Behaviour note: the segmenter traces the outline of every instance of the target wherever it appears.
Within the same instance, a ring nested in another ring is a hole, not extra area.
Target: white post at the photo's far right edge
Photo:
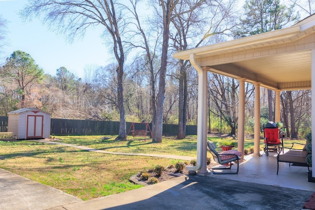
[[[315,50],[311,50],[311,79],[312,79],[312,168],[315,166]],[[314,163],[314,164],[313,164]],[[315,177],[315,173],[312,174]]]

